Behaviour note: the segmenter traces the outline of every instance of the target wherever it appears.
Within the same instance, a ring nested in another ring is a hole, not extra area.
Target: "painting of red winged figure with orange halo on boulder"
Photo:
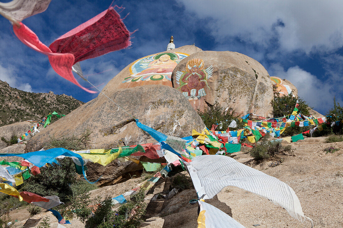
[[[189,101],[196,101],[205,96],[205,86],[210,89],[207,80],[212,77],[213,65],[206,69],[204,65],[202,59],[191,59],[186,64],[186,71],[176,72],[176,81],[180,85],[178,89]]]

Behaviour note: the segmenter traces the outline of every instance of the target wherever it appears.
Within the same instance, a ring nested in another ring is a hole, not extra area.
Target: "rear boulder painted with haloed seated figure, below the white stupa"
[[[144,85],[165,85],[172,87],[171,73],[176,65],[188,55],[202,51],[192,45],[186,45],[169,51],[142,57],[116,75],[106,87],[110,89],[132,88]],[[105,87],[105,88],[106,88]]]

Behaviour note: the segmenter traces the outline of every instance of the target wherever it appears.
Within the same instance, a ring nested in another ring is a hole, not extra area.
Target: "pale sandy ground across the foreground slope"
[[[231,156],[262,172],[279,178],[291,186],[297,194],[304,214],[310,217],[316,228],[343,227],[343,142],[325,143],[325,137],[305,138],[291,143],[293,156],[280,156],[273,161],[282,161],[280,165],[268,167],[272,161],[261,164],[251,162],[251,157],[244,152],[233,153]],[[334,147],[341,150],[333,154],[323,152],[324,148]],[[186,172],[183,172],[186,174]],[[100,195],[116,197],[130,190],[143,181],[142,178],[130,179],[126,182],[107,186],[91,191],[92,197]],[[149,195],[165,193],[170,188],[169,178],[160,179],[148,192]],[[144,228],[197,227],[198,206],[191,205],[190,200],[196,199],[193,188],[177,193],[171,199],[146,200],[147,212]],[[213,199],[205,200],[223,212],[232,216],[247,228],[308,228],[309,221],[300,222],[292,218],[282,207],[259,197],[251,192],[225,187]],[[50,212],[43,212],[29,218],[26,209],[11,212],[12,219],[19,220],[14,227],[36,227],[44,216],[50,218],[51,227],[57,227],[56,218]],[[77,219],[65,227],[83,227]],[[253,226],[255,225],[255,226]],[[225,225],[223,225],[225,227]]]

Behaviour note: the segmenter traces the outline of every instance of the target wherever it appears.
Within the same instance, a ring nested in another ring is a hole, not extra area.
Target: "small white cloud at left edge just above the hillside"
[[[28,83],[21,83],[20,78],[11,67],[3,67],[0,64],[0,80],[6,81],[11,87],[32,92],[32,87]]]

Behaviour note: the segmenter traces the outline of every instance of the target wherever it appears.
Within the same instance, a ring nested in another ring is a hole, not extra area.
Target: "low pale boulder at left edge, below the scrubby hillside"
[[[29,122],[19,122],[10,125],[5,125],[0,127],[0,139],[4,137],[6,140],[10,140],[12,134],[17,137],[23,135],[26,131],[31,129],[32,123]],[[0,140],[0,149],[7,147],[6,143]]]

